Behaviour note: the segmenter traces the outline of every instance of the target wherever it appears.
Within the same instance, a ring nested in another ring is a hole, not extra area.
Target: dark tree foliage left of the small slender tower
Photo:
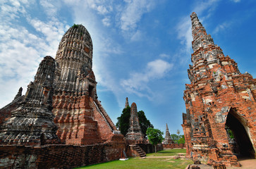
[[[130,125],[130,106],[123,108],[121,116],[117,118],[116,127],[120,130],[121,134],[126,136]]]

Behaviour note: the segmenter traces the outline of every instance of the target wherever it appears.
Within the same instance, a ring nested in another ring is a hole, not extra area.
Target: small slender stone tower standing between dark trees
[[[130,127],[126,134],[126,142],[129,144],[138,144],[142,143],[143,140],[144,136],[140,128],[137,105],[133,102],[130,106]]]

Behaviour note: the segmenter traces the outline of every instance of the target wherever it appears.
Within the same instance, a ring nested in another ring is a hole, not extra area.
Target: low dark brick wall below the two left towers
[[[75,168],[114,161],[125,144],[0,146],[0,168]]]

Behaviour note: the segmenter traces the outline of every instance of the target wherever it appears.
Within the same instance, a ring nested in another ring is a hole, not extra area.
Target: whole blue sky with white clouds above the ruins
[[[191,13],[240,73],[256,77],[254,0],[1,0],[0,107],[23,94],[44,56],[83,24],[92,37],[97,95],[116,124],[126,97],[162,132],[183,133],[183,91],[192,65]]]

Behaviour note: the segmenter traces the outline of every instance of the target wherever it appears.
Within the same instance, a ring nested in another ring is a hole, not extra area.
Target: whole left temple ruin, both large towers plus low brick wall
[[[123,135],[97,99],[92,39],[83,25],[63,35],[22,95],[0,109],[4,168],[74,168],[120,158]]]

